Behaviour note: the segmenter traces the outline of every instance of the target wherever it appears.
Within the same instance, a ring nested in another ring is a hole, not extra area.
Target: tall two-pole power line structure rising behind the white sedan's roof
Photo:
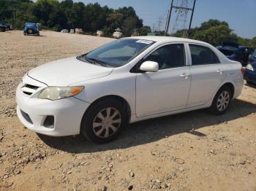
[[[173,22],[171,27],[171,35],[175,34],[177,31],[181,31],[181,36],[186,38],[189,36],[192,17],[195,10],[195,1],[196,0],[177,0],[176,4],[173,5],[173,0],[171,1],[170,11],[167,16],[167,22],[165,26],[165,35],[167,35],[170,25],[170,17],[173,9],[176,13],[176,19]],[[193,2],[193,6],[189,7],[189,4]],[[191,13],[191,14],[190,14]],[[189,26],[188,26],[188,16],[190,16]]]

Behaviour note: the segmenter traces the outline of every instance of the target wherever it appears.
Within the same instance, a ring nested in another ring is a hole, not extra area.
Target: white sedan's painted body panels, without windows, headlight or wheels
[[[130,120],[136,122],[169,114],[188,112],[211,106],[220,87],[229,82],[234,87],[233,98],[241,94],[243,75],[241,63],[230,61],[215,47],[205,42],[163,36],[136,36],[132,39],[154,41],[132,61],[118,68],[105,68],[79,61],[75,57],[39,66],[23,77],[16,90],[17,112],[27,128],[49,136],[80,133],[80,123],[86,109],[97,99],[117,95],[129,104]],[[132,73],[130,70],[157,48],[184,44],[186,66],[157,72]],[[221,63],[192,66],[188,44],[200,44],[213,50]],[[31,95],[23,93],[24,85],[38,87]],[[82,92],[57,101],[39,99],[39,92],[48,86],[84,86]],[[29,114],[33,124],[23,114]],[[54,116],[54,127],[45,128],[43,121]]]

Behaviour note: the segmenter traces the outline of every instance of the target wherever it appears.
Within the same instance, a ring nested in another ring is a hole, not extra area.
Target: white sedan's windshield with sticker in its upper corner
[[[142,39],[118,39],[77,58],[101,66],[119,67],[131,61],[151,44],[154,42]]]

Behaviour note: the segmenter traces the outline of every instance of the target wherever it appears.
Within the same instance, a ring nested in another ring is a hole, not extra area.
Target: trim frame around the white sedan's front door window
[[[143,63],[143,61],[148,58],[149,55],[151,55],[154,51],[158,50],[161,47],[170,45],[170,44],[183,44],[184,45],[184,58],[185,58],[185,65],[184,66],[178,66],[178,67],[173,67],[173,68],[169,68],[169,69],[178,69],[178,68],[182,68],[182,67],[187,67],[189,66],[189,54],[187,52],[187,43],[186,42],[165,42],[163,44],[159,44],[159,46],[154,47],[153,50],[151,50],[150,52],[148,52],[143,58],[140,59],[140,61],[138,61],[138,63],[135,64],[135,66],[132,67],[132,69],[130,69],[129,72],[131,73],[145,73],[145,71],[140,71],[139,67],[140,65]],[[164,71],[167,69],[160,69],[159,71]]]

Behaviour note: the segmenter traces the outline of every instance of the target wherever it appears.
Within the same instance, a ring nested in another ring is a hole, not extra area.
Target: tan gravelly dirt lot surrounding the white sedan
[[[256,190],[256,87],[246,83],[222,116],[199,110],[138,122],[104,145],[23,127],[15,88],[26,71],[111,40],[0,33],[0,190]]]

